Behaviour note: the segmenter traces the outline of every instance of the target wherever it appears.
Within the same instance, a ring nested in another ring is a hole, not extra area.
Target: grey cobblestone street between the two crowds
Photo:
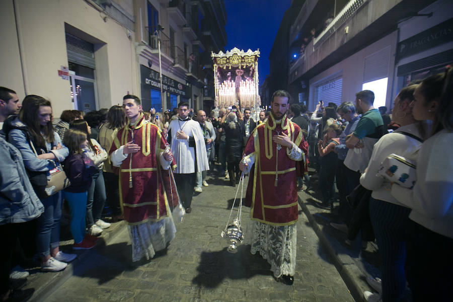
[[[177,225],[166,254],[132,264],[123,226],[106,246],[89,251],[46,301],[353,301],[301,211],[292,286],[275,281],[267,262],[250,254],[247,238],[237,254],[228,253],[220,233],[236,189],[224,186],[228,181],[223,179],[207,181],[209,187],[194,196],[192,213]],[[249,213],[244,207],[245,229]]]

